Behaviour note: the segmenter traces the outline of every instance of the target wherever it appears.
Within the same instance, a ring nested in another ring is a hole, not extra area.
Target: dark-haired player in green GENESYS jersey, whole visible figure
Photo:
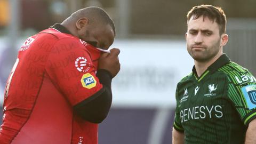
[[[187,18],[195,66],[177,85],[173,143],[256,143],[256,79],[222,52],[225,13],[200,5]]]

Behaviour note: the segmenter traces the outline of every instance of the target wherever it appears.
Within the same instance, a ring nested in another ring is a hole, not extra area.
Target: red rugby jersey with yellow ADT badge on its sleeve
[[[100,53],[54,28],[29,37],[6,84],[0,143],[98,143],[98,124],[73,107],[102,93]]]

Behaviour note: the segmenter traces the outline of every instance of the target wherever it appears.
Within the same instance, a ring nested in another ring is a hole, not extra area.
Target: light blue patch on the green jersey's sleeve
[[[242,87],[244,98],[249,109],[256,108],[256,85],[247,85]]]

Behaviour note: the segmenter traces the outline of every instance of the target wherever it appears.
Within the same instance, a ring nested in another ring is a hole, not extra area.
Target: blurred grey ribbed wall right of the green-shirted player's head
[[[227,34],[229,42],[224,47],[230,59],[249,69],[256,75],[256,19],[228,19]]]

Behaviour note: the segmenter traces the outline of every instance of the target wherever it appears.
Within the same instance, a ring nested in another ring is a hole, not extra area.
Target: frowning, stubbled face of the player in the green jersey
[[[191,17],[186,39],[188,53],[198,62],[207,62],[222,54],[218,23],[207,17]]]

